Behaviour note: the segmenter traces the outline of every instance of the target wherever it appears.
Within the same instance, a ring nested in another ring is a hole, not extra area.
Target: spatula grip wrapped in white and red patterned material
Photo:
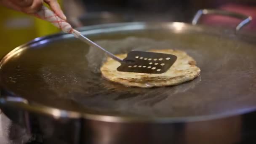
[[[51,22],[55,27],[58,27],[63,32],[74,34],[75,37],[80,35],[80,32],[73,29],[67,21],[61,19],[59,16],[57,16],[56,13],[45,6],[43,6],[41,10],[35,14],[35,16],[45,21]]]

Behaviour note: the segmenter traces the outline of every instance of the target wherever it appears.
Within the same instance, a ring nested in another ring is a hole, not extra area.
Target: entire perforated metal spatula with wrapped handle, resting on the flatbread
[[[120,62],[120,67],[117,68],[120,72],[138,72],[147,74],[161,74],[166,72],[177,57],[175,55],[166,53],[153,53],[147,51],[131,51],[127,54],[125,59],[120,59],[113,53],[97,45],[87,37],[83,36],[80,32],[73,29],[72,26],[63,19],[59,18],[53,11],[43,6],[42,9],[35,14],[40,19],[51,22],[54,26],[60,28],[63,32],[73,34],[78,39],[87,43],[90,46],[100,48],[107,53],[109,57],[115,61]]]

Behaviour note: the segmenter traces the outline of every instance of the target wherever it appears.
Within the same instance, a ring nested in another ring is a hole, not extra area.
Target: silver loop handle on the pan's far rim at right
[[[220,16],[230,16],[230,17],[234,17],[237,19],[242,19],[243,21],[241,21],[235,29],[236,32],[238,32],[240,29],[242,29],[245,25],[249,24],[252,20],[251,16],[246,16],[241,13],[234,13],[234,12],[230,12],[230,11],[213,10],[213,9],[203,9],[203,10],[197,11],[197,13],[195,14],[195,16],[192,20],[192,24],[196,25],[203,14],[204,15],[215,14],[215,15],[220,15]]]

